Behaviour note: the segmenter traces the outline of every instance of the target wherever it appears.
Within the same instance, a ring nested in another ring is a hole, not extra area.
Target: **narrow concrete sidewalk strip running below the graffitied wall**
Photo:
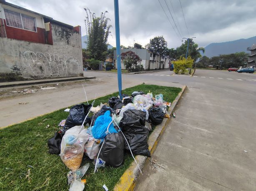
[[[10,81],[10,82],[0,82],[0,88],[13,87],[13,86],[27,86],[33,84],[42,84],[42,83],[53,83],[53,82],[62,82],[62,81],[76,81],[76,80],[86,80],[93,79],[94,76],[80,76],[80,77],[67,77],[67,78],[48,78],[48,79],[39,79],[39,80],[26,80],[26,81]]]

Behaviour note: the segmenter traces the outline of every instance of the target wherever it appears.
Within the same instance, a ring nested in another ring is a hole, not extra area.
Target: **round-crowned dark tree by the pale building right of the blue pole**
[[[167,42],[161,37],[154,37],[153,39],[150,39],[149,45],[148,45],[148,50],[155,54],[159,54],[159,69],[160,69],[160,59],[161,57],[166,54],[166,49],[167,49]],[[149,67],[150,68],[150,67]]]

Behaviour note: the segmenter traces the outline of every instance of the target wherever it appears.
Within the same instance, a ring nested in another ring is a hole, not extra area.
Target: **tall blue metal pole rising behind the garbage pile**
[[[120,57],[120,31],[119,31],[118,0],[114,0],[114,7],[115,7],[115,42],[116,42],[118,91],[119,91],[120,99],[122,99],[122,73],[121,73],[121,57]]]

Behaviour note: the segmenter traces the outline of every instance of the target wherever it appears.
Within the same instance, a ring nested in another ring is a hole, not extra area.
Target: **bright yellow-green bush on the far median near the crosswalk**
[[[174,67],[173,72],[176,73],[176,74],[178,74],[178,73],[184,74],[186,72],[186,69],[192,67],[193,62],[194,62],[194,60],[191,59],[190,56],[188,56],[187,59],[185,59],[183,57],[183,58],[181,58],[177,61],[174,61],[173,62],[173,67]]]

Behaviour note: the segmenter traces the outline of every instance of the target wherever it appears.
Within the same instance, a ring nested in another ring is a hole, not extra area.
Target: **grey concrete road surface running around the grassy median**
[[[84,74],[97,77],[85,83],[88,99],[118,91],[117,74]],[[123,88],[143,82],[188,86],[151,157],[158,165],[148,163],[137,190],[255,190],[256,74],[196,70],[190,77],[159,71],[122,78]],[[80,83],[6,98],[0,100],[0,127],[82,101]]]

